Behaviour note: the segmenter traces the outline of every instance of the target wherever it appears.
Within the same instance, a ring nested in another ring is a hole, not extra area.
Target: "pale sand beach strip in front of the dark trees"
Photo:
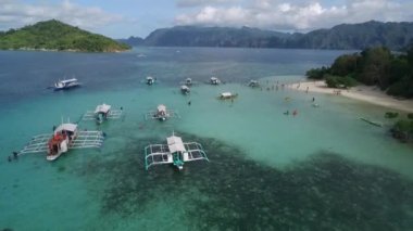
[[[288,86],[290,89],[347,97],[376,105],[413,113],[413,100],[400,100],[386,94],[377,87],[356,86],[349,90],[328,88],[321,81],[303,81]]]

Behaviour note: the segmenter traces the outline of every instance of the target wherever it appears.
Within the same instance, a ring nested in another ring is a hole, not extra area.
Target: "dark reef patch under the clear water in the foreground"
[[[184,134],[208,151],[210,163],[146,171],[142,150],[130,142],[122,158],[90,162],[85,176],[99,172],[102,215],[145,213],[150,202],[182,197],[182,222],[200,230],[412,230],[413,182],[334,153],[320,153],[287,170],[254,161],[214,139]],[[139,155],[137,155],[139,153]],[[200,192],[200,194],[193,192]]]

